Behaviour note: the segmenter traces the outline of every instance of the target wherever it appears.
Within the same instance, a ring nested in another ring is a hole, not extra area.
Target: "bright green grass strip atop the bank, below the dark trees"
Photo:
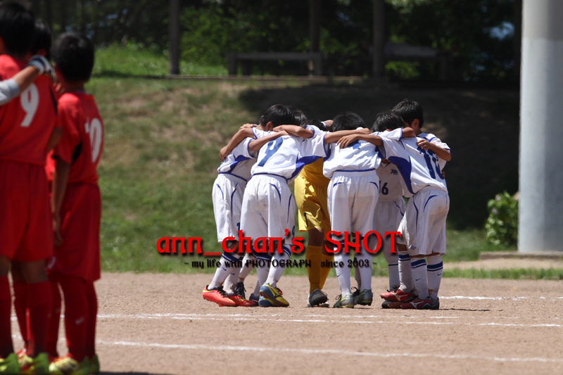
[[[112,44],[96,51],[94,76],[132,77],[168,75],[167,53],[141,49],[135,44]],[[206,66],[191,61],[180,61],[181,75],[227,75],[222,65]]]

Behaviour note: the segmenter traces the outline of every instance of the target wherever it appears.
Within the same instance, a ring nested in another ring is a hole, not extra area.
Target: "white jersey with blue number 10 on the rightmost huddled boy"
[[[400,141],[381,137],[386,159],[398,167],[405,187],[411,194],[416,194],[425,186],[448,191],[442,175],[445,160],[438,158],[433,151],[418,147],[417,141],[426,139],[447,150],[450,150],[450,147],[432,134],[420,135],[422,137],[403,138]]]

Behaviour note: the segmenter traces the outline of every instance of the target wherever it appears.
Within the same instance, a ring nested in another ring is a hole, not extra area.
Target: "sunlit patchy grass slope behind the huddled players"
[[[193,74],[224,74],[221,67],[199,68]],[[367,108],[371,99],[364,101],[365,94],[377,94],[358,87],[299,82],[130,77],[167,73],[165,56],[134,46],[97,51],[94,72],[99,76],[89,82],[87,90],[96,97],[106,128],[99,165],[101,264],[106,272],[214,272],[191,267],[192,261],[205,261],[203,256],[160,255],[156,242],[161,237],[201,237],[206,252],[220,251],[211,189],[220,163],[218,151],[236,129],[245,122],[256,122],[262,110],[273,103],[288,103],[307,110],[311,117],[325,118],[340,106],[353,107],[355,102]],[[393,95],[408,96],[404,92]],[[460,153],[455,155],[462,158]],[[454,215],[460,206],[454,199],[452,202]],[[303,235],[306,243],[306,234],[298,234]],[[487,243],[480,229],[448,229],[446,235],[448,255],[444,261],[450,265],[445,276],[516,277],[510,272],[448,271],[454,262],[477,260],[481,251],[514,249]],[[374,262],[373,274],[386,276],[384,258],[378,256]],[[546,272],[545,277],[557,277],[557,272]],[[304,275],[306,269],[287,269],[286,274]],[[524,270],[517,275],[544,277],[540,271]]]

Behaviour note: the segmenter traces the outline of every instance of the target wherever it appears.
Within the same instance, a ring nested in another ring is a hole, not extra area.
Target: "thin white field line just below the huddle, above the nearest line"
[[[308,317],[305,315],[305,317]],[[463,326],[506,326],[506,327],[550,327],[563,328],[563,324],[510,324],[510,323],[458,323],[458,322],[421,322],[421,321],[397,321],[396,317],[380,317],[372,315],[369,317],[335,317],[330,315],[310,315],[316,318],[329,319],[285,319],[279,314],[253,315],[253,314],[100,314],[99,319],[177,319],[177,320],[213,320],[220,322],[295,322],[295,323],[346,323],[346,324],[430,324],[430,325],[463,325]],[[346,320],[343,318],[387,318],[388,320]],[[417,317],[404,317],[407,319],[417,319]],[[420,319],[438,319],[443,317],[420,317]],[[458,317],[455,317],[458,318]]]

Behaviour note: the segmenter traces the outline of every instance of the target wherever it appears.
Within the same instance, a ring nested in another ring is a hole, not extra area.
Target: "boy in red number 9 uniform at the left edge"
[[[14,2],[0,4],[0,80],[14,77],[25,67],[33,32],[34,18],[27,8]],[[0,106],[0,373],[20,370],[11,338],[10,265],[14,281],[27,288],[32,361],[23,371],[48,371],[44,346],[51,286],[45,259],[53,251],[53,233],[44,165],[55,122],[49,80],[34,82],[19,98]]]

